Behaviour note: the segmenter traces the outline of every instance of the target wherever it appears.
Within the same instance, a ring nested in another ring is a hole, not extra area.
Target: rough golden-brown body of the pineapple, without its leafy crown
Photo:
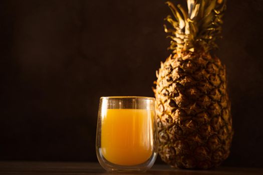
[[[170,55],[157,73],[159,155],[174,167],[207,169],[232,140],[225,66],[209,53]]]

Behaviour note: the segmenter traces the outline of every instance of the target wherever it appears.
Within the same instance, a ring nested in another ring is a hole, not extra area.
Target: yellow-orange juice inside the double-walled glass
[[[145,162],[153,152],[153,110],[107,109],[102,116],[103,156],[119,165]]]

